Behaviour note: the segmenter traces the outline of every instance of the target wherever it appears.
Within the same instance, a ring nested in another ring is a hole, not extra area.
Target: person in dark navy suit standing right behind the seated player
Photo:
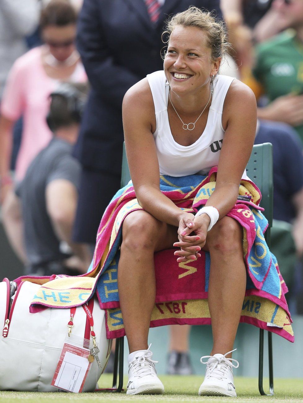
[[[147,74],[163,69],[165,20],[193,3],[222,18],[219,0],[157,0],[152,3],[159,3],[159,17],[152,22],[146,2],[84,0],[79,15],[77,48],[92,90],[74,151],[83,168],[74,229],[78,242],[95,242],[102,214],[119,189],[123,96]]]

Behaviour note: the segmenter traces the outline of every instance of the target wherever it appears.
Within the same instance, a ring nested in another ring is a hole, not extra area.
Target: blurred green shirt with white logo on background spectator
[[[253,74],[270,101],[289,93],[303,94],[303,44],[294,31],[284,31],[257,46]],[[303,141],[303,125],[295,129]]]

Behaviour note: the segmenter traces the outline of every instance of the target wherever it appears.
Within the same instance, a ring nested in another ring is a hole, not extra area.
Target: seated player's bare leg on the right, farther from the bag
[[[211,255],[208,290],[213,331],[211,355],[233,349],[246,289],[242,238],[241,226],[230,217],[219,220],[207,235]]]

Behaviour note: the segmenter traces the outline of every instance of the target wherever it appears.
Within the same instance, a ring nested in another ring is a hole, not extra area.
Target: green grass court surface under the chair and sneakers
[[[274,396],[261,396],[258,391],[257,378],[235,377],[237,398],[228,397],[199,397],[198,390],[203,380],[203,376],[169,376],[160,375],[165,387],[164,395],[126,395],[121,393],[95,392],[95,393],[38,393],[38,392],[0,392],[1,403],[55,403],[55,402],[75,402],[93,403],[110,402],[117,403],[123,401],[149,402],[302,402],[303,401],[303,379],[274,379]],[[100,388],[111,386],[112,376],[103,374],[99,381]],[[127,377],[124,378],[124,387],[127,384]],[[264,380],[264,390],[268,380]]]

